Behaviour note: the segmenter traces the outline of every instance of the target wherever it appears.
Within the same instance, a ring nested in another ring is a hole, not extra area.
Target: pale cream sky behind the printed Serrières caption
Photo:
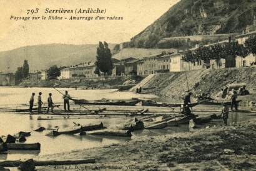
[[[0,0],[0,52],[38,44],[127,42],[177,2],[179,0]],[[72,13],[59,13],[60,9]],[[79,9],[85,12],[78,13]],[[87,9],[99,9],[103,13],[86,13]],[[49,13],[50,10],[57,13]],[[62,17],[62,20],[52,20],[50,16]],[[96,20],[97,16],[105,19]],[[20,17],[30,19],[24,21]],[[92,17],[92,20],[74,21],[69,20],[70,17]]]

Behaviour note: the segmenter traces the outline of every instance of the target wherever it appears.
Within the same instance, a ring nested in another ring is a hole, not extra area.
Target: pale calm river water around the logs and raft
[[[57,90],[64,93],[69,91],[69,95],[79,99],[130,99],[130,98],[157,98],[157,96],[142,94],[137,95],[130,92],[119,92],[116,90],[75,90],[71,88],[58,88]],[[39,91],[42,92],[42,101],[47,102],[49,93],[52,93],[52,100],[55,104],[61,104],[63,109],[62,95],[54,88],[14,88],[0,87],[0,108],[21,108],[21,106],[29,104],[31,94],[36,93],[35,101]],[[47,103],[46,103],[47,104]],[[76,109],[71,101],[71,109]],[[124,107],[125,108],[125,107]],[[0,109],[0,111],[1,111]],[[173,132],[189,132],[188,126],[170,127],[168,129],[159,130],[142,130],[132,132],[132,137],[110,137],[110,136],[74,136],[62,134],[57,137],[46,136],[47,132],[32,131],[37,127],[46,127],[53,129],[55,126],[72,127],[73,122],[80,124],[99,124],[103,122],[104,126],[109,127],[117,122],[127,119],[126,116],[108,116],[107,118],[99,118],[96,116],[72,116],[74,119],[58,119],[58,120],[37,120],[38,115],[19,114],[19,113],[0,113],[0,136],[7,134],[16,134],[19,131],[31,132],[31,136],[26,137],[25,143],[39,142],[41,144],[40,151],[17,151],[9,150],[8,154],[0,154],[0,160],[19,160],[30,159],[35,155],[55,154],[71,150],[86,149],[91,147],[107,146],[113,143],[132,141],[135,137],[140,136],[157,136],[171,134]],[[250,119],[250,116],[243,113],[231,113],[229,122],[237,122]],[[210,124],[219,124],[221,121],[212,121]]]

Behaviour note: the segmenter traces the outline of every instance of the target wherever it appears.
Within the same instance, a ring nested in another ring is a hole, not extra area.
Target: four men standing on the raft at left
[[[42,113],[41,109],[42,109],[42,98],[41,98],[41,95],[42,95],[42,92],[39,92],[38,93],[39,96],[37,96],[37,104],[38,104],[38,108],[37,108],[37,113]],[[34,96],[36,94],[35,93],[32,93],[32,96],[29,100],[29,112],[32,113],[32,108],[34,106]],[[65,111],[71,111],[70,110],[70,107],[69,107],[69,99],[72,99],[71,96],[68,94],[68,91],[65,91],[65,95],[62,96],[62,98],[64,99],[64,110]],[[48,107],[47,107],[47,112],[46,113],[49,113],[49,109],[51,108],[51,112],[53,112],[53,101],[52,101],[52,93],[49,93],[49,97],[47,98],[47,103],[48,103]],[[67,108],[66,108],[67,107]]]

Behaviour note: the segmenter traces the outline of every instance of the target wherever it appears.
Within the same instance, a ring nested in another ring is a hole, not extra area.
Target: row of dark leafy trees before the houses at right
[[[194,51],[189,50],[185,53],[182,60],[185,62],[199,62],[200,60],[220,60],[226,59],[228,55],[235,57],[247,57],[250,53],[256,55],[256,36],[250,36],[245,40],[244,45],[238,42],[228,44],[215,44],[210,47],[199,47]]]

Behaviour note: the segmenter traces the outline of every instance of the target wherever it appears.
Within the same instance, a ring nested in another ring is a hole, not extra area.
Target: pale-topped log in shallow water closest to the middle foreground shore
[[[119,136],[119,137],[131,137],[132,134],[129,130],[116,130],[116,129],[102,129],[96,131],[87,131],[89,135],[101,135],[101,136]]]

